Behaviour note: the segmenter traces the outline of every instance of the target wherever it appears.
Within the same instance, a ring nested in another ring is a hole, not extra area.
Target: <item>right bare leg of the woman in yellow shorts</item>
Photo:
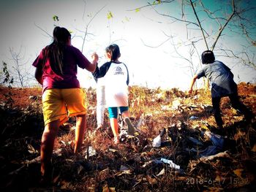
[[[78,153],[83,144],[84,134],[86,132],[86,115],[78,115],[75,128],[75,149],[74,153]]]

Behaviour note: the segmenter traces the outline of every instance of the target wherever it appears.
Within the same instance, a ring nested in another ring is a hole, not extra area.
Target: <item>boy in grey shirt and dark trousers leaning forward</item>
[[[251,121],[254,115],[239,101],[237,85],[233,80],[233,73],[230,68],[221,61],[215,61],[214,53],[211,50],[202,53],[202,63],[206,66],[193,77],[189,93],[192,93],[193,85],[197,79],[206,77],[211,82],[211,101],[214,108],[214,118],[219,128],[223,128],[219,103],[224,96],[228,96],[232,107],[242,112],[246,120]]]

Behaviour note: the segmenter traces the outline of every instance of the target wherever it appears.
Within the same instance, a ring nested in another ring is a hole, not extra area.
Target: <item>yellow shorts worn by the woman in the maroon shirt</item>
[[[54,120],[63,124],[69,116],[85,115],[85,93],[80,88],[48,89],[42,94],[42,112],[45,125]]]

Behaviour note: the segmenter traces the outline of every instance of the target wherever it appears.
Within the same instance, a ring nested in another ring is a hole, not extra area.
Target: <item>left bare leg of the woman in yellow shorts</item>
[[[41,174],[47,176],[50,171],[50,159],[53,154],[54,140],[59,130],[59,120],[48,123],[42,133]]]

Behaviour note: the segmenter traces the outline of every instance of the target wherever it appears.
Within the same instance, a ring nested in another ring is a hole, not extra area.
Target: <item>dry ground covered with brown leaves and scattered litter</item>
[[[87,131],[83,150],[72,154],[75,119],[59,129],[52,185],[39,183],[44,128],[41,88],[0,87],[1,191],[254,191],[256,126],[221,102],[225,130],[216,131],[209,91],[132,87],[129,109],[134,137],[121,128],[113,144],[108,112],[95,131],[96,91],[86,89]],[[256,114],[256,85],[238,85],[241,101]],[[159,147],[154,139],[162,132]],[[216,135],[218,134],[218,135]]]

